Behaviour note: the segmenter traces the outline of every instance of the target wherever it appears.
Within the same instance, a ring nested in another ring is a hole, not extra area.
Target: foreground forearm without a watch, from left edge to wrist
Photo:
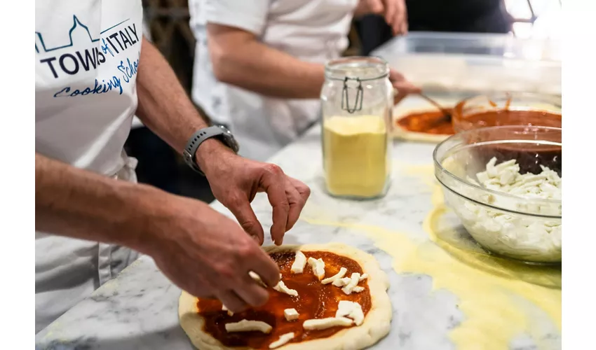
[[[143,225],[161,194],[35,154],[36,230],[144,251],[154,237]]]

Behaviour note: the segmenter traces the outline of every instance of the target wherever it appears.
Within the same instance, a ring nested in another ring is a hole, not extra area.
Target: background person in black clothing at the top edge
[[[402,0],[408,31],[506,34],[512,20],[503,0]],[[356,21],[362,55],[396,35],[383,17],[369,14]]]

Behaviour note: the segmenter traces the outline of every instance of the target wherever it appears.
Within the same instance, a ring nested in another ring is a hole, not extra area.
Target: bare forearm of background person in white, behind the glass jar
[[[325,81],[323,64],[300,59],[259,42],[255,34],[224,25],[207,25],[215,77],[270,97],[318,98]]]

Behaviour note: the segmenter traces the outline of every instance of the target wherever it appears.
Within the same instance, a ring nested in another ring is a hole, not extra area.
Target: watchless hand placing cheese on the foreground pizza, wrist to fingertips
[[[140,249],[161,272],[196,297],[217,297],[232,312],[264,304],[267,286],[279,282],[279,269],[257,243],[226,216],[207,204],[184,197],[159,198],[144,228]]]

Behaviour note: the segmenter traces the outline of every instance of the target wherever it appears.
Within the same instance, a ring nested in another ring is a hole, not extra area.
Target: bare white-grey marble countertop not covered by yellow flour
[[[374,255],[388,274],[393,321],[389,335],[373,346],[377,350],[456,349],[449,332],[466,318],[454,293],[435,288],[426,274],[396,272],[394,257],[375,244],[374,235],[358,230],[358,225],[369,225],[374,230],[407,232],[410,241],[429,240],[423,221],[433,208],[428,184],[429,179],[432,181],[433,148],[433,144],[395,141],[388,195],[367,202],[339,200],[325,194],[318,126],[271,159],[312,190],[301,220],[287,232],[284,243],[344,242]],[[416,169],[426,169],[431,176],[421,176]],[[221,204],[215,202],[212,206],[231,216]],[[266,197],[257,196],[253,208],[265,232],[269,232],[271,209]],[[271,244],[271,240],[265,244]],[[193,349],[178,323],[179,296],[180,289],[165,279],[151,258],[143,256],[39,332],[36,349]],[[543,333],[540,337],[552,340],[548,349],[560,349],[560,335],[553,330]],[[511,339],[509,347],[538,349],[524,334]]]

